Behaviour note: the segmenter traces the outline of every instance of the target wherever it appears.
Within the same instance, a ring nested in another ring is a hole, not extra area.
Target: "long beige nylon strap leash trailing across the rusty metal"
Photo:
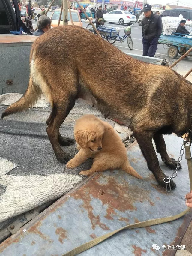
[[[191,161],[191,153],[190,153],[190,147],[189,146],[185,146],[185,158],[187,159],[187,165],[188,165],[188,170],[189,170],[190,189],[192,190],[192,161]],[[152,219],[152,220],[147,220],[147,221],[142,221],[142,222],[127,225],[127,226],[119,228],[119,229],[117,229],[113,232],[110,232],[108,234],[105,234],[103,236],[95,238],[95,239],[93,239],[89,242],[86,242],[85,244],[82,244],[82,245],[74,248],[73,250],[68,251],[67,253],[63,254],[62,256],[77,255],[77,254],[79,254],[83,251],[86,251],[86,250],[90,249],[91,247],[99,244],[100,242],[103,242],[104,240],[106,240],[110,236],[113,236],[114,234],[118,233],[119,231],[121,231],[123,229],[149,227],[149,226],[158,225],[158,224],[162,224],[162,223],[165,223],[165,222],[169,222],[169,221],[179,219],[183,215],[185,215],[189,210],[190,210],[190,208],[187,208],[184,212],[181,212],[181,213],[179,213],[177,215],[174,215],[174,216]]]

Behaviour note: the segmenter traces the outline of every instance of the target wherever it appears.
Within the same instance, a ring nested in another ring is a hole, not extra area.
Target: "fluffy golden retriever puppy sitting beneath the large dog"
[[[67,168],[75,168],[91,157],[91,169],[79,174],[89,176],[107,169],[122,169],[143,179],[129,164],[125,145],[110,124],[94,115],[85,115],[76,121],[74,135],[79,152],[68,161]]]

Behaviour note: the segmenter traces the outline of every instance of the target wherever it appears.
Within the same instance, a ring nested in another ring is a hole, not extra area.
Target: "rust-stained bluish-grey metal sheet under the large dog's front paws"
[[[182,139],[165,136],[167,151],[176,159]],[[176,215],[186,209],[190,191],[187,162],[167,193],[147,168],[137,142],[128,147],[131,165],[144,177],[138,180],[121,170],[95,174],[30,221],[0,245],[0,255],[62,255],[93,238],[126,224]],[[163,171],[169,170],[158,155]],[[141,229],[123,230],[82,255],[174,255],[163,245],[179,245],[192,219],[192,211],[179,220]],[[26,229],[26,232],[23,230]],[[152,248],[160,247],[159,251]]]

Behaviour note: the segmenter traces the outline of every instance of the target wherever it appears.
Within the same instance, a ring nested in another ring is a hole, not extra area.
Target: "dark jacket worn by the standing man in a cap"
[[[157,14],[151,15],[150,18],[144,17],[142,20],[142,35],[143,38],[151,41],[153,38],[159,38],[163,30],[161,16]]]

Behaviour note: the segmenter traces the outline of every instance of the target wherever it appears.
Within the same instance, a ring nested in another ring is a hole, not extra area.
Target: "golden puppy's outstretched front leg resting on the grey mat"
[[[73,169],[80,164],[84,163],[88,158],[90,157],[90,154],[86,149],[80,149],[79,152],[72,158],[70,161],[68,161],[66,167]]]

